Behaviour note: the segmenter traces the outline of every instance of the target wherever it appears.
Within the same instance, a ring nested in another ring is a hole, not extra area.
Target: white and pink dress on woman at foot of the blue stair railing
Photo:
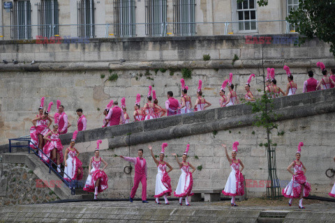
[[[68,148],[68,159],[66,160],[67,167],[64,168],[64,179],[71,180],[81,180],[82,179],[82,161],[77,157],[75,151],[70,151]],[[78,169],[80,169],[80,174],[77,174]],[[70,178],[69,178],[70,177]]]

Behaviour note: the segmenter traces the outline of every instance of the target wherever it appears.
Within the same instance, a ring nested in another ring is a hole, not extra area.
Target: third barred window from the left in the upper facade
[[[77,2],[78,37],[94,38],[94,0]]]

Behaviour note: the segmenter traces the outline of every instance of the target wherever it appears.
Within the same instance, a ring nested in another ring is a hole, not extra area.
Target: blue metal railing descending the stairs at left
[[[66,186],[70,188],[71,194],[75,195],[75,180],[72,180],[68,176],[68,174],[66,174],[64,172],[64,170],[62,170],[62,169],[59,168],[61,170],[61,173],[59,173],[57,171],[57,169],[54,169],[52,167],[52,164],[54,164],[56,167],[57,167],[57,164],[54,161],[52,161],[50,159],[50,157],[47,157],[47,155],[42,150],[40,150],[40,148],[38,148],[38,146],[36,146],[33,142],[31,142],[31,138],[30,138],[29,135],[28,136],[24,136],[24,137],[20,137],[20,138],[17,138],[17,139],[8,139],[8,140],[9,140],[9,153],[12,153],[12,148],[28,148],[28,153],[30,153],[30,151],[33,151],[35,153],[35,155],[37,155],[37,157],[40,158],[40,160],[42,162],[44,162],[47,165],[47,167],[49,167],[49,173],[51,174],[51,171],[54,171],[54,173],[59,178],[61,178],[61,180],[66,184]],[[25,145],[25,144],[23,144],[23,145],[22,144],[20,144],[20,145],[17,145],[17,144],[13,145],[14,141],[16,141],[16,142],[27,142],[27,145]],[[33,145],[33,147],[36,148],[37,151],[35,151],[34,148],[31,148],[31,145]],[[49,162],[46,162],[45,160],[43,160],[43,157],[41,157],[40,154],[45,155],[45,157],[47,157],[47,160]],[[64,175],[61,176],[61,174],[65,174],[68,177],[68,179],[70,179],[70,180],[68,181],[68,180],[64,179],[64,177],[63,177]]]

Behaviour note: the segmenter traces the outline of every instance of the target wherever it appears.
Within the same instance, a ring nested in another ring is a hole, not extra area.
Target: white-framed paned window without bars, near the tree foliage
[[[239,31],[255,31],[257,29],[255,0],[237,3],[237,16]]]

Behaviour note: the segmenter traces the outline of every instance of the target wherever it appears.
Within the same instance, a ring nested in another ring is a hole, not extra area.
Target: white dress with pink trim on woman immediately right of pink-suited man
[[[162,164],[161,161],[159,161],[154,197],[162,197],[164,194],[171,196],[171,178],[166,172],[166,167],[166,164]]]

